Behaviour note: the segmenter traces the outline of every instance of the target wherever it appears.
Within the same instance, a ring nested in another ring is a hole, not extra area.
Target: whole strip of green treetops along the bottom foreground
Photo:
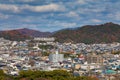
[[[65,70],[54,71],[20,71],[19,76],[7,76],[0,71],[0,80],[97,80],[92,77],[74,77]]]

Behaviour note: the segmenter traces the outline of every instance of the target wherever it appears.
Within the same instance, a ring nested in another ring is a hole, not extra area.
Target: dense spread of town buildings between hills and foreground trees
[[[28,70],[65,70],[73,76],[115,79],[120,74],[119,53],[120,43],[18,42],[0,38],[0,69],[13,76]]]

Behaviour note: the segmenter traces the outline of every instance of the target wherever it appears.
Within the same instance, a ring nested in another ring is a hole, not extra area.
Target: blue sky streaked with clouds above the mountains
[[[120,24],[120,0],[0,0],[0,30],[57,31]]]

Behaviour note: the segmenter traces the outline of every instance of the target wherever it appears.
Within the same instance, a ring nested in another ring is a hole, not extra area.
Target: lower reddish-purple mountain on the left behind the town
[[[23,41],[26,39],[31,39],[33,37],[48,37],[52,33],[50,32],[40,32],[32,29],[16,29],[16,30],[5,30],[0,31],[0,37],[3,37],[8,40]]]

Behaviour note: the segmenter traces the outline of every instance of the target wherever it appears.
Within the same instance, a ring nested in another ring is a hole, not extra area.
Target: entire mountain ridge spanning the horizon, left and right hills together
[[[100,25],[85,25],[55,32],[41,32],[28,28],[0,31],[0,37],[10,40],[26,40],[34,37],[55,37],[59,42],[111,43],[120,42],[120,25],[112,22]],[[19,37],[22,37],[20,39]]]

